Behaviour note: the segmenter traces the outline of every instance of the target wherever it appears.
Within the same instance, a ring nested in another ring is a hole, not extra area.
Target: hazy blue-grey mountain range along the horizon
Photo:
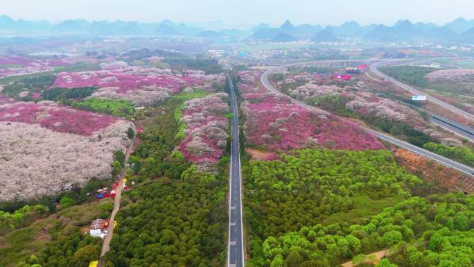
[[[49,21],[26,21],[0,16],[1,35],[95,35],[95,36],[182,36],[200,37],[213,42],[238,39],[267,40],[270,42],[292,42],[311,40],[313,42],[339,42],[349,38],[360,38],[375,42],[441,42],[474,44],[474,19],[458,18],[444,25],[416,23],[405,19],[393,26],[370,24],[361,26],[349,21],[340,26],[301,24],[285,21],[279,28],[262,23],[249,31],[220,29],[222,21],[205,24],[208,28],[178,24],[168,19],[159,23],[138,23],[134,21],[86,21],[70,19],[59,24]]]

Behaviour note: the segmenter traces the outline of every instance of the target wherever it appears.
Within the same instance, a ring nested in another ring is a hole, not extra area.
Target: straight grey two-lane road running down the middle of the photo
[[[238,148],[238,108],[234,85],[229,77],[231,91],[232,145],[229,178],[229,240],[227,243],[227,266],[245,266],[242,225],[242,182],[240,180],[240,149]]]

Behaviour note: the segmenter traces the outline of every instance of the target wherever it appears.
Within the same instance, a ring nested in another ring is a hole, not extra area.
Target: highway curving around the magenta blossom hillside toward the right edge
[[[277,71],[278,69],[281,69],[281,67],[272,67],[265,71],[263,75],[261,76],[261,83],[263,86],[265,86],[270,92],[273,92],[274,94],[281,94],[285,95],[282,92],[279,92],[276,88],[273,87],[273,85],[268,81],[268,76],[274,72]],[[303,103],[301,101],[297,101],[295,98],[292,98],[292,102],[295,103],[296,105],[299,105],[300,107],[304,108],[315,108],[313,106],[310,106],[306,103]],[[372,130],[370,128],[366,128],[361,126],[363,129],[365,129],[367,132],[371,133],[372,135],[375,135],[379,139],[388,141],[389,143],[392,143],[396,146],[400,146],[401,148],[405,148],[406,150],[410,150],[413,153],[416,153],[418,155],[421,155],[423,157],[428,157],[430,160],[434,160],[436,162],[439,162],[440,164],[443,164],[444,166],[448,166],[450,168],[456,169],[457,171],[461,171],[462,173],[466,173],[468,175],[474,176],[474,169],[466,166],[464,164],[461,164],[459,162],[455,162],[453,160],[450,160],[446,157],[442,157],[440,155],[437,155],[435,153],[432,153],[428,150],[425,150],[423,148],[419,148],[418,146],[414,146],[410,143],[407,143],[405,141],[398,140],[390,135],[386,135],[385,133],[382,132],[377,132],[376,130]]]

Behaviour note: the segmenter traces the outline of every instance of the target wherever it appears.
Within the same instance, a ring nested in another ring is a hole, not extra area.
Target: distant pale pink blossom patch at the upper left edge
[[[53,67],[67,64],[70,64],[67,60],[40,60],[19,55],[0,56],[0,78],[53,71]]]

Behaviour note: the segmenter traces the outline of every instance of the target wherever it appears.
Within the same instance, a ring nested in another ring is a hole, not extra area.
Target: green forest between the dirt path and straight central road
[[[227,171],[207,182],[174,151],[175,117],[182,103],[202,94],[182,94],[137,114],[146,129],[130,157],[131,179],[143,184],[124,194],[107,255],[107,266],[222,266],[226,259]]]

